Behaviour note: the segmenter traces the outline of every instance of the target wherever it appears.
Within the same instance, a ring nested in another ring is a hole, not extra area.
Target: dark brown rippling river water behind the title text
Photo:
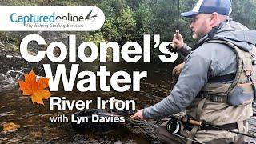
[[[111,130],[99,130],[94,132],[81,132],[74,130],[70,122],[51,123],[51,116],[65,114],[70,116],[76,110],[50,110],[49,101],[44,101],[44,105],[32,104],[27,96],[22,96],[18,90],[17,80],[22,78],[24,72],[34,69],[38,76],[44,74],[42,63],[28,63],[22,58],[15,56],[10,58],[8,54],[0,51],[0,125],[14,122],[18,125],[18,130],[0,132],[0,143],[150,143],[145,133],[136,133],[125,126],[114,127]],[[141,90],[133,92],[128,90],[120,93],[114,90],[110,92],[79,92],[75,89],[72,92],[64,92],[60,86],[58,92],[52,92],[53,96],[66,97],[68,100],[95,100],[97,97],[115,97],[122,100],[134,100],[136,109],[153,105],[170,93],[173,86],[171,83],[171,70],[176,63],[80,63],[79,70],[98,71],[99,66],[105,66],[113,74],[115,71],[124,70],[130,75],[133,71],[147,71],[147,78],[141,80]],[[56,64],[52,64],[56,66]],[[70,63],[66,65],[66,71],[70,71]],[[97,79],[98,82],[98,79]],[[250,130],[254,132],[256,126],[255,118],[250,119]],[[1,131],[1,130],[0,130]],[[86,131],[86,130],[85,130]],[[251,140],[251,142],[255,142]]]

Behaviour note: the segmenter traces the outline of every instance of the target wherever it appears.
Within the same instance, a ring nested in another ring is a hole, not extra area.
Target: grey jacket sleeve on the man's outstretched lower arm
[[[177,84],[166,98],[143,110],[144,118],[161,118],[185,110],[208,81],[211,60],[190,54]]]

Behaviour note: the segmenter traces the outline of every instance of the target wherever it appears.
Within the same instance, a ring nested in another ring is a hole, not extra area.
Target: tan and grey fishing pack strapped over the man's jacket
[[[256,48],[255,46],[246,52],[231,42],[211,40],[206,43],[222,43],[232,48],[237,55],[237,72],[234,74],[232,83],[208,82],[200,92],[199,97],[209,98],[212,102],[227,102],[231,106],[246,106],[256,98]],[[216,79],[216,78],[215,78]]]

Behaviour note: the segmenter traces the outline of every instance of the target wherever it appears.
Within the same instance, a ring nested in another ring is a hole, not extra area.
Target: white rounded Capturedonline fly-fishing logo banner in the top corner
[[[96,6],[2,6],[2,31],[93,31],[105,16]]]

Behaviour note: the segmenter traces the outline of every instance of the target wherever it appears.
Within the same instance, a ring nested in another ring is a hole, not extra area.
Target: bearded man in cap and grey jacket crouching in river
[[[246,143],[245,136],[227,130],[246,134],[253,115],[256,31],[232,21],[230,13],[230,0],[199,0],[193,10],[182,13],[192,18],[190,29],[198,42],[190,48],[181,34],[174,34],[176,50],[186,57],[178,82],[161,102],[132,116],[159,118],[186,110],[188,118],[218,129],[182,122],[177,137],[164,122],[156,129],[162,142]]]

